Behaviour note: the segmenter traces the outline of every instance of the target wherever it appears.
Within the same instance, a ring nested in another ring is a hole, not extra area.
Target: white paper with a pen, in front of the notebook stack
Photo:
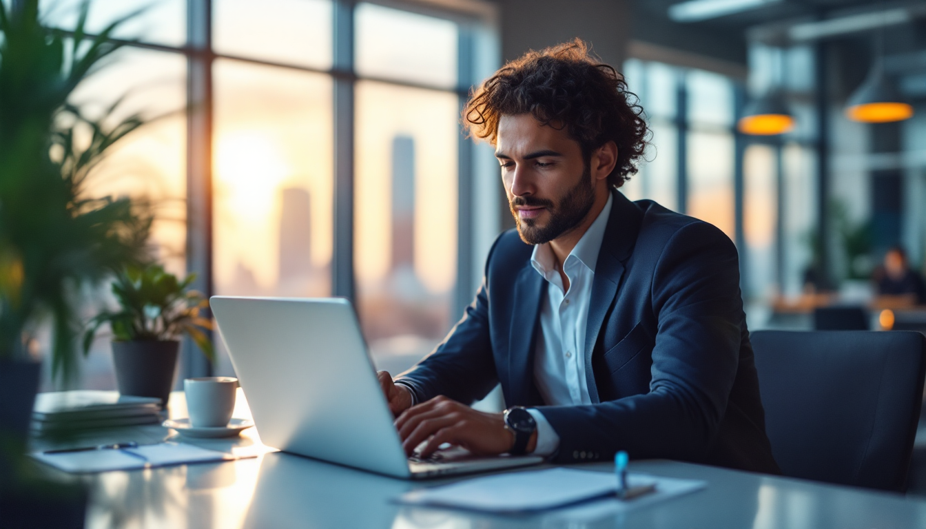
[[[81,452],[31,454],[36,460],[52,465],[64,472],[107,472],[163,467],[183,463],[238,459],[231,454],[184,443],[159,443],[134,448],[104,448]]]

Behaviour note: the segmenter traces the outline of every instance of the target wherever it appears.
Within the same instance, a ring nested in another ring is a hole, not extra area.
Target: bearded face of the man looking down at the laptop
[[[529,245],[569,233],[594,205],[582,147],[565,129],[544,126],[530,114],[502,116],[495,157],[518,233]]]

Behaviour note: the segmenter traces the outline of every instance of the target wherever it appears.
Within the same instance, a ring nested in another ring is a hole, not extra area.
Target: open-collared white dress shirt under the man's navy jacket
[[[585,326],[592,298],[594,265],[605,238],[614,198],[607,197],[601,210],[563,262],[569,290],[563,288],[559,268],[549,243],[533,247],[531,265],[546,280],[546,296],[540,307],[533,359],[533,380],[547,406],[592,404],[585,378]],[[596,331],[597,332],[597,331]],[[597,336],[594,336],[595,338]],[[549,456],[559,447],[559,435],[537,409],[528,409],[537,422],[534,452]]]

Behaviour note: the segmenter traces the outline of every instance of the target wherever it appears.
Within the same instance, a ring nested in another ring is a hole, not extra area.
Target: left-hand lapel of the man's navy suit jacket
[[[507,406],[525,406],[536,399],[532,347],[543,294],[544,278],[528,261],[515,280],[515,306],[508,340],[508,380],[513,402],[506,403]]]

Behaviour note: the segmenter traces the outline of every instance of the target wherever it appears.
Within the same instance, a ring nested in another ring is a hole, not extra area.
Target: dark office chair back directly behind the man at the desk
[[[759,393],[786,476],[903,492],[926,374],[909,331],[757,331]]]

